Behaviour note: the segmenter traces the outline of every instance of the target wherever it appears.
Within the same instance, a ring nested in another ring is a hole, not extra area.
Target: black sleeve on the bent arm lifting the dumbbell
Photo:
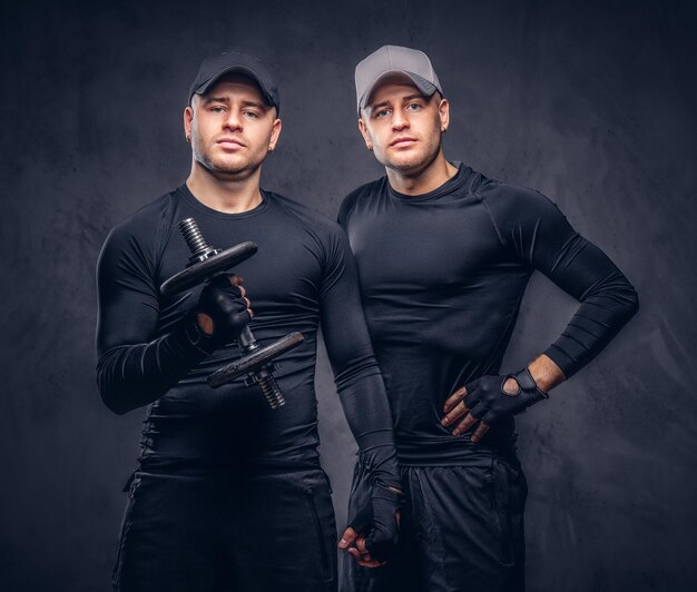
[[[193,319],[156,337],[154,267],[151,249],[124,227],[107,237],[97,264],[97,384],[118,414],[163,396],[206,355],[196,346]]]

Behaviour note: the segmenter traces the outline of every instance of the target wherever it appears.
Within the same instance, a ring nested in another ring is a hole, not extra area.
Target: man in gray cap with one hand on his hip
[[[355,71],[359,128],[386,176],[343,201],[406,504],[386,565],[363,531],[340,543],[345,591],[521,591],[527,485],[513,416],[590,362],[638,306],[632,286],[557,206],[449,161],[450,105],[421,51],[385,46]],[[501,374],[538,269],[580,306],[563,334]],[[526,363],[527,362],[527,363]],[[370,481],[359,466],[348,514]]]

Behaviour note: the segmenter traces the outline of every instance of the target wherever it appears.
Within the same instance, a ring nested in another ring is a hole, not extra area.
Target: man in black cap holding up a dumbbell
[[[376,556],[396,537],[400,477],[392,420],[341,228],[259,188],[281,134],[278,90],[256,59],[228,52],[200,67],[184,110],[192,171],[107,238],[98,264],[97,375],[112,411],[148,405],[114,571],[117,590],[332,591],[336,531],[317,454],[314,367],[322,324],[337,389],[372,477],[361,509]],[[210,245],[253,240],[242,279],[218,276],[174,296],[161,283],[188,260],[177,223]],[[253,316],[253,318],[252,318]],[[238,357],[251,323],[265,345],[303,344],[275,373],[272,410],[242,379],[208,375]]]

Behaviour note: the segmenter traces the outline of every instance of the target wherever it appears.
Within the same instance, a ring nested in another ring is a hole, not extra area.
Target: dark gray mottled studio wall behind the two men
[[[380,174],[352,77],[383,43],[431,56],[451,159],[552,197],[641,297],[520,421],[530,590],[696,589],[694,2],[97,4],[6,8],[0,31],[2,590],[108,589],[143,412],[112,415],[95,387],[94,268],[111,226],[185,179],[200,59],[234,46],[268,63],[284,130],[264,185],[334,217]],[[536,278],[504,369],[573,308]],[[318,384],[342,523],[354,444],[324,358]]]

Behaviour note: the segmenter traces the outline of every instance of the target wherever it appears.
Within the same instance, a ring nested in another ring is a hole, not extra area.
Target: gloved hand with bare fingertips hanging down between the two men
[[[402,500],[401,492],[373,485],[370,502],[346,527],[338,547],[346,550],[364,568],[384,565],[399,541]]]

